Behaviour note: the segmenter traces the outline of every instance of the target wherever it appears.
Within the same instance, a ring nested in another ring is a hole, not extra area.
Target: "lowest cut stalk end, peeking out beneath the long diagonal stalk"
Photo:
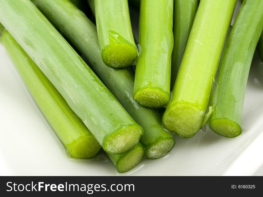
[[[118,172],[127,172],[134,167],[136,167],[140,161],[142,161],[144,156],[144,147],[138,142],[132,149],[128,152],[114,155],[108,154],[114,166],[117,168]]]

